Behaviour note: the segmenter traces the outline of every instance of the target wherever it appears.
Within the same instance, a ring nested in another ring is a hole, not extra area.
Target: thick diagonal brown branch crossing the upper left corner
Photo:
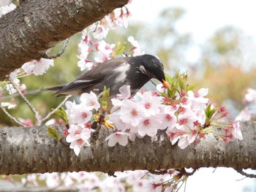
[[[30,0],[0,18],[0,80],[128,0]]]

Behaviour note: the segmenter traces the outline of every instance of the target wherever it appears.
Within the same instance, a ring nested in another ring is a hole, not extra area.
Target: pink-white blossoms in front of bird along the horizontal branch
[[[211,107],[206,98],[207,88],[201,88],[196,93],[189,90],[173,100],[162,96],[161,92],[151,91],[137,93],[131,98],[129,85],[123,85],[119,91],[116,98],[111,99],[113,109],[108,117],[113,123],[113,134],[105,139],[110,147],[117,143],[126,146],[128,139],[134,141],[136,137],[146,135],[154,140],[159,130],[165,130],[172,145],[178,142],[181,149],[196,143],[207,133],[217,134],[225,142],[233,138],[242,139],[238,123],[225,124],[220,121],[227,117],[227,110],[225,107]],[[83,145],[89,145],[93,130],[91,123],[95,120],[93,114],[97,114],[100,107],[93,92],[83,93],[80,101],[80,104],[75,101],[66,103],[69,120],[67,142],[71,143],[70,147],[77,155]],[[223,128],[223,134],[214,131],[218,125]]]

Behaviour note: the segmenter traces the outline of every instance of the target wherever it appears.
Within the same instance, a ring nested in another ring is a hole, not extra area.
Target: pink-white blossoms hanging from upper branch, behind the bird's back
[[[115,58],[116,55],[122,54],[122,50],[125,48],[124,43],[109,44],[104,39],[107,37],[110,29],[117,28],[118,26],[127,28],[127,18],[130,16],[128,7],[129,4],[115,9],[112,13],[106,15],[105,18],[82,31],[82,40],[78,45],[80,47],[78,66],[81,71],[89,70],[96,64],[102,64],[110,58]],[[134,37],[128,37],[127,40],[132,45],[130,51],[133,52],[133,56],[145,53],[140,50],[140,45]],[[91,53],[90,56],[89,53]]]

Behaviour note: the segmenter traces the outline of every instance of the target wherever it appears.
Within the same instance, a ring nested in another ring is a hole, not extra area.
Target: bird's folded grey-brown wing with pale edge
[[[73,82],[64,85],[59,91],[55,94],[74,94],[80,95],[80,92],[89,92],[91,87],[99,83],[104,82],[110,75],[113,74],[113,70],[116,69],[121,64],[124,64],[126,61],[125,58],[114,58],[105,63],[99,64],[99,66],[94,67],[88,72],[81,74],[78,79]],[[95,86],[94,86],[95,87]],[[88,90],[88,91],[86,91]]]

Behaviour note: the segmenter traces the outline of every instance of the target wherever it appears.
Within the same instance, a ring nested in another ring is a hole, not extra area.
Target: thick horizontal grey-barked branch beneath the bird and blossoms
[[[46,134],[46,127],[0,128],[0,174],[43,172],[108,172],[178,167],[225,166],[256,169],[256,122],[245,121],[244,140],[225,144],[210,136],[198,145],[181,150],[171,145],[164,133],[151,142],[150,137],[136,139],[126,147],[108,147],[104,128],[91,147],[83,147],[79,156]],[[63,127],[56,127],[61,132]]]

